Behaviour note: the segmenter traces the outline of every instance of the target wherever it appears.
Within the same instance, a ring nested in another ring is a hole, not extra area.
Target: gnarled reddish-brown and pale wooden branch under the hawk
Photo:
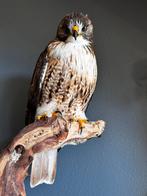
[[[36,121],[21,130],[0,155],[0,196],[24,196],[24,179],[35,153],[83,143],[100,136],[105,122],[87,122],[80,128],[75,121],[66,122],[61,116]]]

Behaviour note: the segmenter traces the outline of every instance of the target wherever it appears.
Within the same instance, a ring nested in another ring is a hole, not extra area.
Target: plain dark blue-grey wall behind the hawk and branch
[[[35,196],[147,196],[147,3],[145,1],[0,1],[0,146],[24,125],[35,62],[66,13],[93,19],[99,81],[89,119],[104,119],[100,139],[60,151],[54,185]]]

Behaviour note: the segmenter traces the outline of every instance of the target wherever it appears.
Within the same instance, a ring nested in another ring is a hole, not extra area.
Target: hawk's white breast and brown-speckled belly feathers
[[[37,115],[47,112],[50,116],[56,110],[65,117],[84,115],[97,78],[90,45],[56,41],[48,45],[46,59]]]

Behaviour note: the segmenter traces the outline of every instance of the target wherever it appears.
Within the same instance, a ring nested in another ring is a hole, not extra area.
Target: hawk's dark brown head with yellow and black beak
[[[72,13],[61,20],[57,30],[57,38],[66,41],[71,36],[75,40],[82,36],[84,39],[92,41],[93,25],[87,15]]]

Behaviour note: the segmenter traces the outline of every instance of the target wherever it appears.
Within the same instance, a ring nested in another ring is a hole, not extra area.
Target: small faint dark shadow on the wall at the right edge
[[[138,99],[146,98],[147,101],[147,59],[142,59],[133,64],[133,79],[136,83],[136,96]]]

